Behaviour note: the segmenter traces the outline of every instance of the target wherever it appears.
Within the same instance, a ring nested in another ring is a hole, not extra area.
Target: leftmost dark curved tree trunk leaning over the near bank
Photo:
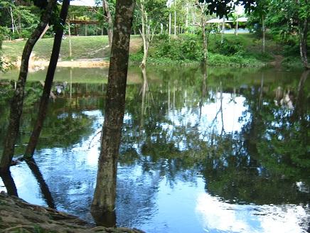
[[[55,4],[56,0],[48,1],[48,6],[46,7],[46,10],[43,11],[41,16],[41,22],[38,24],[35,31],[33,31],[31,37],[27,40],[25,48],[23,48],[21,70],[19,72],[16,90],[11,100],[9,126],[6,132],[6,139],[4,141],[4,151],[0,159],[0,173],[7,173],[9,171],[11,160],[14,156],[14,146],[19,131],[21,113],[23,111],[23,96],[25,92],[25,84],[28,75],[28,63],[31,51],[48,25]]]

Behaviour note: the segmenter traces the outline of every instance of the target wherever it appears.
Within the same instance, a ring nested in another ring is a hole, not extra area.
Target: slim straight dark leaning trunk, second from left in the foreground
[[[23,156],[24,158],[31,158],[33,156],[34,150],[36,149],[36,144],[38,143],[38,139],[41,133],[43,121],[46,118],[46,112],[48,109],[48,101],[50,99],[50,90],[52,89],[55,69],[57,66],[58,58],[59,58],[60,45],[61,45],[61,41],[63,40],[63,26],[65,26],[65,19],[67,18],[67,15],[68,15],[69,5],[70,5],[70,0],[63,1],[63,6],[61,7],[61,11],[60,11],[60,25],[56,28],[56,32],[55,32],[53,50],[52,50],[52,54],[50,55],[50,64],[48,65],[48,72],[46,74],[46,82],[43,87],[38,117],[36,119],[36,124],[33,128],[31,137],[29,139],[25,155]]]

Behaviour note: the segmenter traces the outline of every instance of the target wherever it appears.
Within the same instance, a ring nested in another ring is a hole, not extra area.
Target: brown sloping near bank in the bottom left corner
[[[141,233],[125,227],[95,227],[78,217],[0,193],[0,232]]]

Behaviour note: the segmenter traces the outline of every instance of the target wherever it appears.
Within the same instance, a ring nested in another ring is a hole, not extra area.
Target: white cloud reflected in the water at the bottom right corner
[[[309,211],[299,205],[234,205],[208,193],[198,195],[196,212],[205,232],[306,232]]]

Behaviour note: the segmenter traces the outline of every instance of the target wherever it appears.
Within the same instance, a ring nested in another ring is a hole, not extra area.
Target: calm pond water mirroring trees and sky
[[[28,78],[18,154],[36,119],[45,72]],[[0,76],[1,146],[16,74]],[[132,67],[128,82],[118,226],[309,232],[310,82],[301,70],[149,67],[143,77]],[[21,198],[93,221],[106,83],[105,69],[58,69],[34,156],[46,185],[26,163],[11,167]]]

